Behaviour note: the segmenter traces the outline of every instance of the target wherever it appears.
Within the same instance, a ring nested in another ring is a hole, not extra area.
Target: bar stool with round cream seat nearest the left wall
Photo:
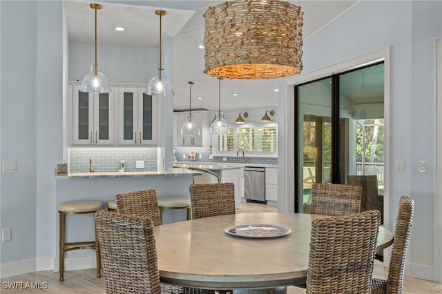
[[[95,240],[85,242],[66,242],[66,215],[83,215],[86,213],[95,213],[102,209],[102,202],[99,201],[70,201],[60,202],[58,204],[60,233],[59,233],[59,271],[60,282],[64,281],[64,253],[66,251],[77,249],[94,249],[97,259],[97,277],[100,275],[100,253],[97,239],[97,230],[95,229]],[[95,224],[94,224],[95,228]]]

